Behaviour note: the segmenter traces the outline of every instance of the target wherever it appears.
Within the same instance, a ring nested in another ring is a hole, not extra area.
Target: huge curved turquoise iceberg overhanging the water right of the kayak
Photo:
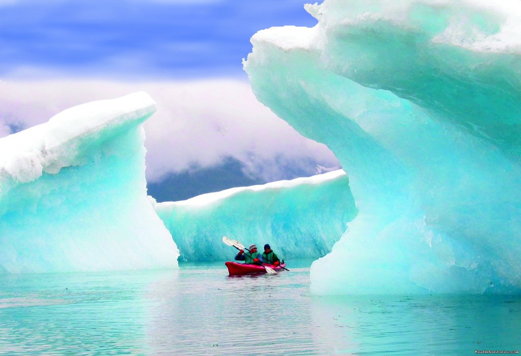
[[[358,216],[317,294],[520,293],[519,2],[326,0],[252,37],[257,98],[325,143]]]

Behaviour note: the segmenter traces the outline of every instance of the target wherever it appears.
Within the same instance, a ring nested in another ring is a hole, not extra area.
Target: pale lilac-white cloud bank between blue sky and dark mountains
[[[247,82],[234,80],[0,82],[0,135],[7,123],[29,127],[68,107],[137,91],[157,102],[157,112],[145,122],[150,181],[229,156],[266,180],[278,179],[286,164],[338,166],[325,145],[302,137],[258,103]]]

